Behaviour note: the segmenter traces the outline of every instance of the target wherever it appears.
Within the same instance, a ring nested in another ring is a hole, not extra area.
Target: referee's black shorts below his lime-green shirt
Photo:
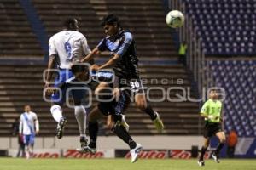
[[[222,132],[222,127],[220,123],[213,123],[213,122],[205,122],[204,132],[203,135],[205,138],[211,138],[218,132]]]

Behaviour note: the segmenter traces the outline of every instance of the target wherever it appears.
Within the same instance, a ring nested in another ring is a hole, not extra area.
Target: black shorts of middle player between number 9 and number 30
[[[98,108],[103,115],[121,115],[124,114],[131,102],[131,92],[129,90],[121,90],[119,100],[113,99],[109,102],[99,102]]]

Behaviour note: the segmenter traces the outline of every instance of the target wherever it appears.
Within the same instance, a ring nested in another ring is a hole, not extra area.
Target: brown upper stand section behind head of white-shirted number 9
[[[99,19],[89,0],[32,0],[34,7],[38,11],[40,20],[42,20],[48,37],[61,31],[62,21],[68,17],[74,17],[79,21],[79,31],[88,39],[91,48],[103,36],[102,28],[99,26]],[[49,10],[51,13],[49,13]],[[55,17],[53,17],[53,15]]]

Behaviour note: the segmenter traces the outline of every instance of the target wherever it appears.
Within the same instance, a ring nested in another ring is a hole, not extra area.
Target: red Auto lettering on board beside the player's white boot
[[[142,159],[165,159],[166,156],[167,156],[167,150],[162,150],[162,151],[159,151],[159,150],[143,150],[141,151],[140,155],[139,155],[139,158],[142,158]],[[131,153],[128,152],[126,155],[125,155],[125,158],[131,158]]]

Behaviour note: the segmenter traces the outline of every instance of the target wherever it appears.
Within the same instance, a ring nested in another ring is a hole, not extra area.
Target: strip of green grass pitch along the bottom
[[[256,170],[256,159],[221,160],[217,164],[206,161],[199,167],[196,160],[138,160],[131,163],[126,159],[16,159],[1,158],[0,170]]]

